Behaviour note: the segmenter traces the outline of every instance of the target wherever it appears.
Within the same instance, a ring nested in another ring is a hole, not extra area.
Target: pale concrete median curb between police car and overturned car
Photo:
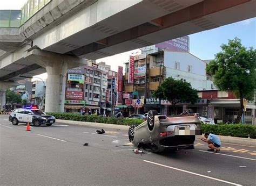
[[[116,129],[116,130],[129,130],[129,127],[130,127],[127,125],[114,125],[114,124],[93,123],[93,122],[85,122],[85,121],[72,121],[72,120],[64,120],[64,119],[56,119],[56,123],[86,126],[86,127],[93,127],[93,128],[110,128],[110,129]]]

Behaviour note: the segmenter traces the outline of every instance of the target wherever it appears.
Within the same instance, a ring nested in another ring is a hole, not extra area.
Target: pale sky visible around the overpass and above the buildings
[[[0,0],[1,10],[16,10],[21,9],[26,0]],[[228,39],[238,37],[242,40],[242,45],[246,47],[256,44],[256,18],[243,20],[242,22],[233,23],[230,25],[221,26],[209,31],[199,32],[190,35],[190,53],[196,55],[202,60],[213,59],[214,54],[220,52],[220,45],[227,43]],[[113,55],[107,58],[99,59],[107,65],[111,65],[111,69],[117,71],[118,66],[123,66],[127,62],[129,55],[138,52],[139,49],[125,52],[122,54]],[[40,75],[41,78],[46,78],[46,74]]]

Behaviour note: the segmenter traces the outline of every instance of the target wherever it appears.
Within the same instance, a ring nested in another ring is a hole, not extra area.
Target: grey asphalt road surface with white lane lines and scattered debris
[[[134,154],[127,131],[12,125],[0,116],[0,185],[255,185],[256,147]],[[89,146],[83,146],[85,142]]]

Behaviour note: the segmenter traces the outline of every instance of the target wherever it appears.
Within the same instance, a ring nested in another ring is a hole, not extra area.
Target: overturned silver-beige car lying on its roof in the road
[[[129,140],[134,146],[151,152],[193,148],[196,135],[201,134],[198,116],[191,109],[171,117],[150,110],[146,121],[130,126]]]

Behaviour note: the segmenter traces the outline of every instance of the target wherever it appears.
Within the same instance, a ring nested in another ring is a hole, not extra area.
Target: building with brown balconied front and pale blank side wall
[[[132,67],[126,63],[125,91],[133,92],[134,95],[131,101],[134,110],[131,109],[130,112],[144,113],[154,109],[166,113],[159,100],[152,101],[152,95],[167,77],[173,77],[176,80],[183,78],[197,90],[215,89],[211,78],[206,75],[206,62],[203,60],[189,52],[158,51],[157,49],[151,51],[154,53],[145,52],[134,56],[133,83],[129,83],[129,70]],[[138,99],[140,104],[137,104]]]

